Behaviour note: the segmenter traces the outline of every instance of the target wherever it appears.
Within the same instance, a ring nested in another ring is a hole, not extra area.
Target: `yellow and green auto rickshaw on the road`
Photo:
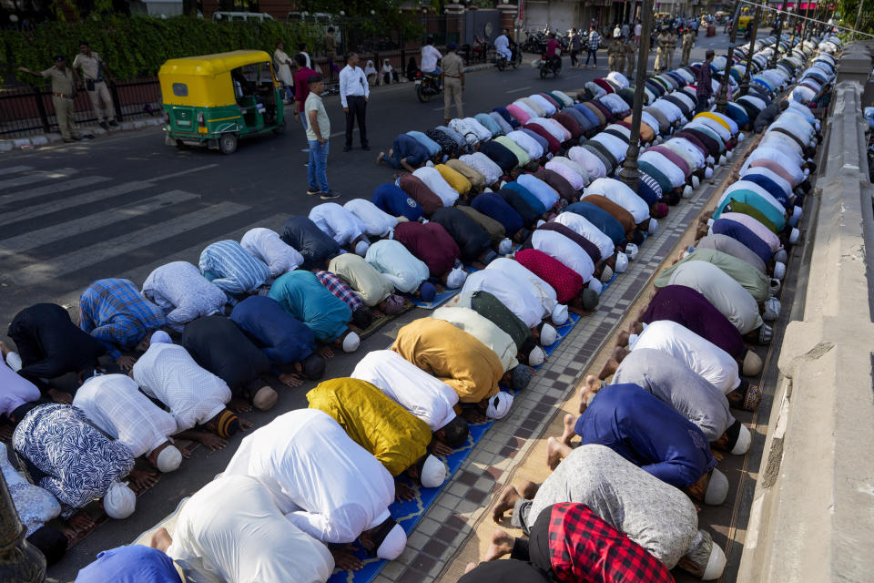
[[[279,82],[264,51],[172,58],[158,80],[168,145],[232,154],[242,136],[285,129]]]

